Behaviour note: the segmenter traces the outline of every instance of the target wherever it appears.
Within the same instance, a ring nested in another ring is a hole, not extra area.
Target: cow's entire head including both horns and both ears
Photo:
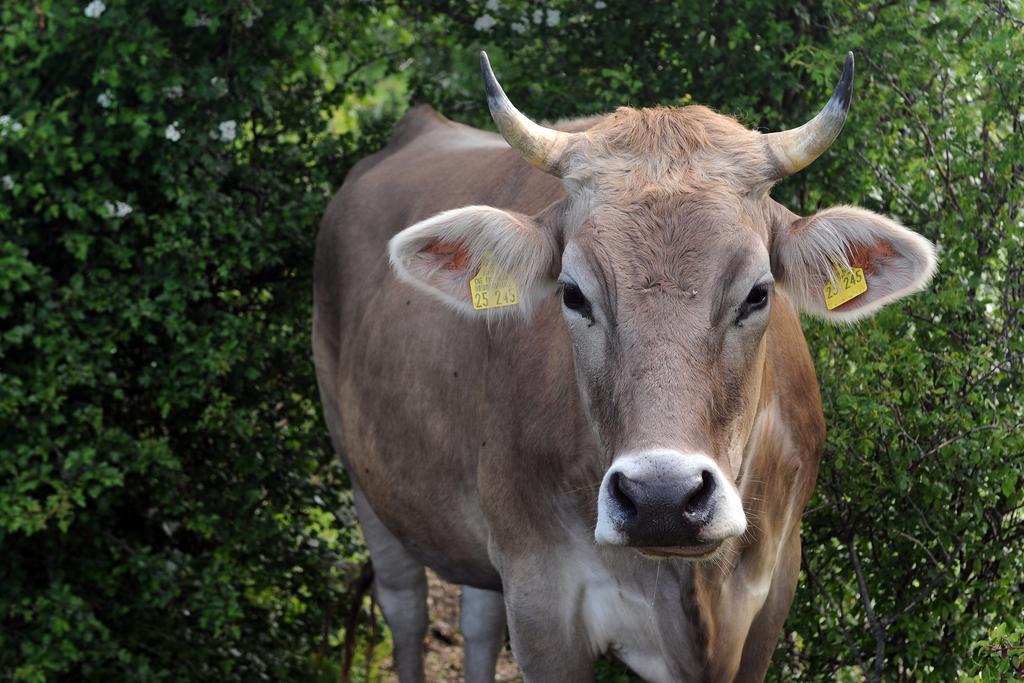
[[[771,134],[702,106],[624,108],[584,132],[552,130],[481,63],[499,130],[567,196],[535,216],[446,211],[397,234],[391,262],[469,314],[528,315],[557,291],[604,459],[597,542],[706,556],[746,528],[736,480],[774,299],[855,321],[935,269],[932,245],[889,218],[854,207],[801,217],[769,196],[839,135],[853,55],[820,114]],[[473,307],[469,281],[485,260],[514,281],[517,306]],[[849,268],[866,292],[827,307],[825,286]]]

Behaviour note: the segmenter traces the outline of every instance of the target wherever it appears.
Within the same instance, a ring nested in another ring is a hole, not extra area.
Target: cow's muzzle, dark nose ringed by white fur
[[[620,456],[601,482],[599,544],[653,556],[702,557],[746,530],[739,495],[705,455],[652,451]]]

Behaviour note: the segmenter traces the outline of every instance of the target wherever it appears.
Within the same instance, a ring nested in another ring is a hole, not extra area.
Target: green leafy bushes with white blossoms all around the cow
[[[0,681],[337,680],[365,552],[315,226],[410,103],[489,127],[481,48],[538,119],[765,130],[855,51],[846,130],[775,196],[891,214],[940,269],[806,323],[829,437],[769,677],[1021,666],[990,647],[1024,644],[1019,2],[104,1],[0,6]]]

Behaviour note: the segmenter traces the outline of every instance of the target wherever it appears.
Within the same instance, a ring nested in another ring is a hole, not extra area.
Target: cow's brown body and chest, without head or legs
[[[652,681],[697,680],[706,660],[721,674],[710,678],[728,680],[742,654],[756,679],[793,598],[824,434],[793,307],[772,312],[739,481],[754,523],[727,559],[693,565],[594,545],[602,468],[556,299],[526,325],[488,326],[388,266],[387,241],[438,211],[532,214],[563,194],[498,135],[426,108],[353,169],[317,244],[316,367],[335,445],[420,561],[447,581],[505,588],[514,641],[537,636],[517,647],[573,665],[610,650]]]

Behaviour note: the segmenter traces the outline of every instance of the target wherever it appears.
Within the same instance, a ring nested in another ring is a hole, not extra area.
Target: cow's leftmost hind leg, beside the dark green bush
[[[391,629],[394,668],[400,683],[423,681],[423,637],[427,633],[427,574],[387,530],[353,486],[355,511],[374,565],[374,596]]]

